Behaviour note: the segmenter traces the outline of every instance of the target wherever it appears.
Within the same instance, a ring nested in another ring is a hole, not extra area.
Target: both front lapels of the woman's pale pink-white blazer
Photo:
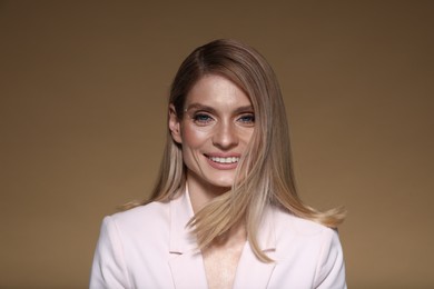
[[[189,192],[186,189],[177,199],[170,201],[170,260],[169,267],[176,288],[207,288],[203,256],[196,238],[186,227],[194,216]],[[267,207],[258,230],[259,248],[275,260],[276,235],[274,209]],[[266,288],[275,262],[264,263],[254,255],[246,242],[238,262],[234,288]],[[195,281],[191,281],[194,276]]]

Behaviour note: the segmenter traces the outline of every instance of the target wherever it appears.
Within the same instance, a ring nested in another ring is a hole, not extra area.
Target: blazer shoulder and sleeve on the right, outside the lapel
[[[300,288],[346,288],[343,251],[337,231],[320,223],[273,209],[276,287],[298,283]]]

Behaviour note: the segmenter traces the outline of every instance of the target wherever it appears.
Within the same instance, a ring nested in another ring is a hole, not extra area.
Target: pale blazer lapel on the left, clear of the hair
[[[188,191],[170,201],[169,267],[175,288],[207,288],[204,261],[187,222],[193,217]]]

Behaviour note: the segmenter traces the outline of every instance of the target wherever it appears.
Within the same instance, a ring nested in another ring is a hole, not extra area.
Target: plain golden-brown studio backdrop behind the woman
[[[348,286],[433,288],[434,2],[205,2],[0,1],[0,287],[87,287],[177,67],[236,38],[278,74],[303,198],[348,209]]]

